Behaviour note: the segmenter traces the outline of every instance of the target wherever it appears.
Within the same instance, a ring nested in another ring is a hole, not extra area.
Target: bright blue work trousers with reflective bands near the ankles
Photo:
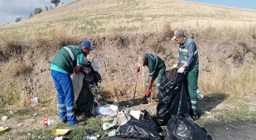
[[[74,111],[74,90],[69,74],[51,70],[52,78],[57,90],[58,113],[63,122],[68,121],[69,125],[76,124]]]

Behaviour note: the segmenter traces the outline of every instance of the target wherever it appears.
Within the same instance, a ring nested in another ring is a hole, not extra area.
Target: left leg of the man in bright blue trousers
[[[57,90],[57,98],[58,98],[58,114],[63,122],[66,122],[68,120],[67,118],[67,110],[66,110],[66,104],[65,104],[65,93],[62,90],[62,87],[60,85],[59,75],[62,74],[61,72],[57,72],[55,70],[51,70],[52,78],[54,80],[54,84]]]

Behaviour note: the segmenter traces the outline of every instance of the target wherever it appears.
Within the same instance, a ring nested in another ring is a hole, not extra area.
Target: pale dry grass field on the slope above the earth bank
[[[76,6],[76,10],[72,6]],[[63,8],[72,10],[65,12]],[[62,13],[58,13],[58,10]],[[190,24],[187,24],[188,20]],[[166,23],[172,26],[167,27]],[[62,32],[66,32],[66,36],[78,37],[84,34],[161,32],[163,28],[182,28],[187,32],[207,30],[222,37],[238,38],[238,34],[254,33],[255,25],[255,10],[178,0],[99,0],[87,7],[73,2],[23,22],[0,26],[0,34],[13,39],[30,40],[38,36],[59,38]],[[57,34],[52,34],[54,30]]]

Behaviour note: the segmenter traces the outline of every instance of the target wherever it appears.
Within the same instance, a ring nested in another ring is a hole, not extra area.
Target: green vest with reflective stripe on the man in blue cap
[[[82,48],[79,45],[65,46],[57,52],[52,59],[51,64],[59,66],[69,74],[72,74],[77,63],[76,56],[80,52],[83,53]]]

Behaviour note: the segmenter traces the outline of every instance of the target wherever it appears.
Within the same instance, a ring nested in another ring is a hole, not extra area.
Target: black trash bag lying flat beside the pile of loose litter
[[[144,117],[141,120],[132,118],[126,124],[120,126],[119,132],[116,136],[120,138],[137,138],[140,140],[161,140],[159,134],[159,127],[151,120],[146,110],[144,110]]]

